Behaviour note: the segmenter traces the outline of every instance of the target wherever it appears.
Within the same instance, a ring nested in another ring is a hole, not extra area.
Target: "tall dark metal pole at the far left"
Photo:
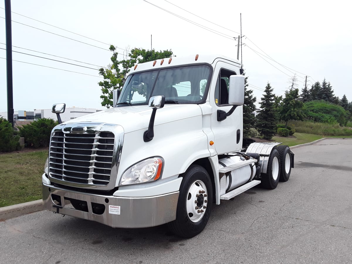
[[[11,0],[5,0],[7,120],[13,126]]]

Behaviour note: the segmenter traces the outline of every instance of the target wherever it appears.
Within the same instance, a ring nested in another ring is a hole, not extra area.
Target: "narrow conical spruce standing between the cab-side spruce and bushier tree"
[[[263,97],[260,101],[260,110],[257,116],[257,128],[265,139],[271,139],[276,133],[276,115],[274,108],[274,89],[270,83],[266,84]]]

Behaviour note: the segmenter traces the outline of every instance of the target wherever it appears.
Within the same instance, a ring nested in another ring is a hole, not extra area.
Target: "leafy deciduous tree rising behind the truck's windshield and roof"
[[[113,52],[113,55],[110,58],[112,64],[109,64],[107,68],[101,68],[99,70],[99,75],[103,76],[104,80],[98,83],[102,92],[102,95],[100,95],[100,98],[102,99],[101,105],[106,106],[107,108],[112,107],[112,92],[115,89],[122,88],[130,68],[138,63],[155,61],[156,59],[172,56],[171,50],[155,51],[134,48],[127,52],[128,56],[119,60],[117,58],[118,52],[116,52],[115,46],[111,45],[109,50]]]

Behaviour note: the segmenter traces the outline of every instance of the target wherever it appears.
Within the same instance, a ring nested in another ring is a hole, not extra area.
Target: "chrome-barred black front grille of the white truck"
[[[107,185],[113,163],[114,140],[114,134],[105,131],[53,132],[50,143],[50,176],[66,182]]]

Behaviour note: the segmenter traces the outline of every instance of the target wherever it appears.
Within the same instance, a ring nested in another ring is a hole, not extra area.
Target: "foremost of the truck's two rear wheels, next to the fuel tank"
[[[276,147],[271,150],[266,173],[262,173],[261,185],[265,189],[275,189],[279,183],[280,155]]]

